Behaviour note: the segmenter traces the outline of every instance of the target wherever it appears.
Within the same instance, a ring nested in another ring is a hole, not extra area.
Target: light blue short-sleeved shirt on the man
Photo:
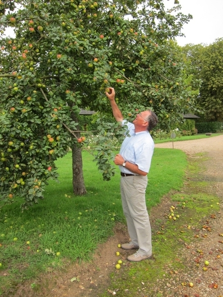
[[[137,164],[140,170],[148,173],[154,151],[154,141],[150,133],[148,131],[135,133],[135,126],[126,120],[123,120],[121,124],[128,126],[127,130],[130,137],[125,137],[119,151],[120,155],[124,160]],[[119,169],[123,173],[132,173],[120,165]]]

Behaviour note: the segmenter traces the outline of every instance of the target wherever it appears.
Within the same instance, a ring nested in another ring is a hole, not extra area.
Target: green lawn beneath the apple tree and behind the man
[[[112,234],[115,221],[124,222],[118,168],[111,181],[104,182],[92,156],[83,151],[88,193],[76,197],[71,162],[71,153],[56,161],[59,183],[50,181],[39,204],[21,212],[18,199],[1,208],[0,293],[40,273],[64,269],[70,261],[91,259],[97,245]],[[182,187],[186,164],[180,150],[155,149],[146,193],[149,209],[171,189]],[[2,277],[3,272],[7,276]]]

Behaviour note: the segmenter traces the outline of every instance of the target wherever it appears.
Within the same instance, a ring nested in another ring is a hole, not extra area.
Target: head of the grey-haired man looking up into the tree
[[[133,121],[135,126],[135,131],[151,131],[154,127],[156,127],[158,123],[158,117],[152,110],[146,110],[138,113],[136,118]]]

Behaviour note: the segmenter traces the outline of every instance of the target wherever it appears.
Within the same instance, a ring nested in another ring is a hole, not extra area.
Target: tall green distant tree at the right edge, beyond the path
[[[223,121],[223,39],[209,46],[187,45],[183,48],[194,76],[201,80],[198,108],[207,121]]]

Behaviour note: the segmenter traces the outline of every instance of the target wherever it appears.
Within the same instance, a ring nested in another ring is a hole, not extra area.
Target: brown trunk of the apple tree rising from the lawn
[[[77,123],[78,119],[74,113],[71,115],[72,119]],[[76,126],[77,131],[79,130],[79,125]],[[77,138],[80,137],[80,132],[75,133]],[[73,171],[73,193],[75,195],[85,195],[87,193],[84,185],[83,176],[83,162],[81,147],[79,144],[74,143],[72,146],[72,171]]]

